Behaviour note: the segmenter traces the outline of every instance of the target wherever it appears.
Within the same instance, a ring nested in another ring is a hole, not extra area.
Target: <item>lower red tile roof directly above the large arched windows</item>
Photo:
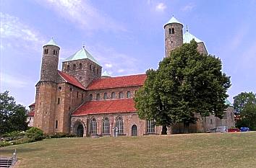
[[[133,99],[98,100],[85,102],[85,104],[74,111],[72,116],[136,111]]]

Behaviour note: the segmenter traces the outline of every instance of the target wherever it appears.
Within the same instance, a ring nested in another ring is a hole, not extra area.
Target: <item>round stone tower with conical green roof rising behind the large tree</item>
[[[170,56],[171,50],[183,44],[183,25],[173,16],[163,28],[165,32],[164,40],[167,57]]]

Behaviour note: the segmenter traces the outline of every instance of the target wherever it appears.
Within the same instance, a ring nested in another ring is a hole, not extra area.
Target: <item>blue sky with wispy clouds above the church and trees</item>
[[[64,58],[85,48],[111,76],[158,68],[163,25],[174,17],[221,58],[231,76],[229,100],[256,92],[256,1],[1,0],[1,92],[18,103],[35,100],[42,46],[51,37]]]

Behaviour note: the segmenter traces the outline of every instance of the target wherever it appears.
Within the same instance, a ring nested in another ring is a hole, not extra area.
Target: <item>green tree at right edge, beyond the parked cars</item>
[[[253,92],[242,92],[234,99],[234,110],[236,116],[236,127],[249,127],[256,130],[256,94]]]

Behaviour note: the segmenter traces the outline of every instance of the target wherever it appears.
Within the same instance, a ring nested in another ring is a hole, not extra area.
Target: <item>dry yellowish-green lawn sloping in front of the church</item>
[[[256,132],[61,138],[7,146],[18,167],[256,167]]]

